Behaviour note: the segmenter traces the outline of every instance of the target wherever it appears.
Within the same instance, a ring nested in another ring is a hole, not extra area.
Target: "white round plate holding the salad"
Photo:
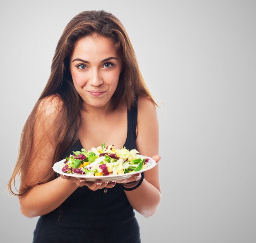
[[[86,181],[96,181],[96,180],[102,180],[102,181],[119,181],[119,180],[123,180],[126,178],[131,177],[134,174],[137,173],[141,173],[144,172],[146,170],[152,169],[153,167],[155,167],[156,162],[153,160],[153,158],[150,157],[146,157],[146,156],[142,156],[142,155],[138,155],[139,158],[149,158],[149,165],[148,167],[146,167],[145,169],[141,169],[140,171],[135,171],[135,172],[130,172],[127,174],[121,174],[121,175],[110,175],[110,176],[87,176],[86,174],[70,174],[70,173],[65,173],[63,172],[61,169],[63,168],[62,165],[65,162],[65,159],[58,161],[54,164],[54,166],[52,167],[53,170],[55,172],[57,172],[58,174],[64,175],[64,176],[72,176],[72,177],[76,177],[76,178],[85,178]]]

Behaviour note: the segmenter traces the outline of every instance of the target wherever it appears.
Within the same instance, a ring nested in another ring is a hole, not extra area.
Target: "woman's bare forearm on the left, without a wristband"
[[[61,177],[32,188],[20,198],[20,210],[29,218],[52,212],[75,191],[78,186]]]

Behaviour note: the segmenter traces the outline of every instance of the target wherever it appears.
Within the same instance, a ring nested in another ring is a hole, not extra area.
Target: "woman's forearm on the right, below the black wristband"
[[[150,217],[157,211],[161,201],[159,190],[144,178],[141,185],[133,191],[125,191],[130,205],[141,215]]]

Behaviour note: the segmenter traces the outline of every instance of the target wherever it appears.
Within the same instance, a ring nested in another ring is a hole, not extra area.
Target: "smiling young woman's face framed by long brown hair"
[[[103,36],[78,40],[70,59],[70,72],[86,106],[109,104],[121,73],[121,60],[112,40]]]

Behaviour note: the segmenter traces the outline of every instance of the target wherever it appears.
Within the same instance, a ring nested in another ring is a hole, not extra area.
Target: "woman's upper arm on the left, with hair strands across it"
[[[62,109],[62,100],[58,96],[47,96],[40,100],[31,126],[32,143],[27,172],[23,183],[35,186],[52,170],[52,158],[56,148],[58,118]],[[25,141],[23,141],[24,143]],[[28,146],[28,145],[26,145]]]

